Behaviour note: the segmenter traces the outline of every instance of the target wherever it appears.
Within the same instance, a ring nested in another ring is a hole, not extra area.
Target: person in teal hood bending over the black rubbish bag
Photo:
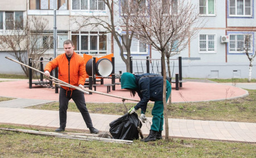
[[[132,114],[136,110],[141,109],[141,119],[146,120],[145,113],[147,110],[147,102],[155,101],[152,109],[152,125],[150,134],[147,138],[142,139],[143,142],[155,141],[162,139],[163,131],[163,76],[158,74],[144,73],[131,74],[123,73],[121,76],[121,88],[128,89],[133,97],[138,93],[141,101],[136,106],[132,107],[128,113]],[[171,84],[166,81],[166,101],[171,94]]]

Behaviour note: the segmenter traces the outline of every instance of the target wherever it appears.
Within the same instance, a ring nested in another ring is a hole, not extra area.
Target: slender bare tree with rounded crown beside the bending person
[[[199,22],[197,7],[185,0],[151,0],[131,1],[129,30],[137,35],[139,40],[152,45],[152,49],[159,51],[163,68],[163,103],[166,139],[168,140],[168,114],[166,103],[166,63],[165,56],[172,56],[171,52],[180,47],[184,49],[188,39],[195,34],[192,27]]]

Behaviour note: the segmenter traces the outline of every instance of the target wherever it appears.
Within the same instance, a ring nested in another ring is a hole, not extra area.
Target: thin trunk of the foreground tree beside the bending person
[[[167,103],[166,103],[166,63],[164,52],[162,51],[162,69],[163,69],[163,106],[164,106],[164,125],[166,128],[166,140],[169,140],[169,124],[168,124],[168,113],[167,113]]]

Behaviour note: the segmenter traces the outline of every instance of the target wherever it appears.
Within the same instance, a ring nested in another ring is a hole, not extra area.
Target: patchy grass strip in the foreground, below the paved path
[[[2,128],[26,128],[0,124]],[[133,144],[104,143],[0,130],[0,157],[255,157],[255,144],[208,140],[158,140]]]

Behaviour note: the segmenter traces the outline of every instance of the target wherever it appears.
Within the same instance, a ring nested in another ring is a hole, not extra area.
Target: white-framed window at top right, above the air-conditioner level
[[[251,0],[229,0],[229,15],[251,16]]]

